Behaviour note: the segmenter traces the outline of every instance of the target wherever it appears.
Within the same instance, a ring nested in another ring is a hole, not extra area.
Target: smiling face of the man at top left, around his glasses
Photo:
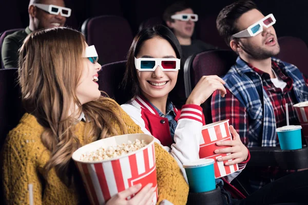
[[[55,6],[65,7],[63,0],[43,0],[41,1],[41,4],[47,4],[47,5],[52,4]],[[61,16],[61,13],[54,15],[37,7],[34,7],[33,12],[29,11],[29,13],[34,19],[34,25],[36,30],[43,28],[64,26],[66,22],[66,17]]]

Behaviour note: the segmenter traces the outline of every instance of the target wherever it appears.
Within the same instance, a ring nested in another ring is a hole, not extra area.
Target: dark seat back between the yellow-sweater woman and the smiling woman
[[[127,95],[120,89],[125,73],[126,60],[110,63],[102,66],[99,72],[99,89],[108,94],[108,96],[120,105],[126,103]]]

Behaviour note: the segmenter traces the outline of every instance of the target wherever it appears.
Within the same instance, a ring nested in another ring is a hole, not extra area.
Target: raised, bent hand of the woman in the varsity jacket
[[[221,96],[224,97],[227,93],[225,87],[223,86],[224,84],[225,81],[217,75],[202,76],[194,90],[191,91],[186,100],[186,104],[195,104],[200,106],[216,90],[220,90]]]

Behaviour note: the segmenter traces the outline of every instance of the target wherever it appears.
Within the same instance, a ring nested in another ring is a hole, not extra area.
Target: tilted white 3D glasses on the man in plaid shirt
[[[231,39],[256,36],[263,31],[263,26],[265,28],[268,28],[268,27],[273,26],[275,23],[276,23],[276,19],[274,15],[272,13],[268,14],[267,16],[265,16],[264,18],[262,18],[255,24],[249,26],[247,29],[232,35]]]

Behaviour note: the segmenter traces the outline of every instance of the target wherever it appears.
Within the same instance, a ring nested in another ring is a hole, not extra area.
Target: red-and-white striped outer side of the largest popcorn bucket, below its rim
[[[151,143],[147,149],[139,150],[132,155],[120,159],[100,163],[76,162],[91,204],[105,204],[115,194],[127,188],[153,183],[158,197],[155,147]]]

